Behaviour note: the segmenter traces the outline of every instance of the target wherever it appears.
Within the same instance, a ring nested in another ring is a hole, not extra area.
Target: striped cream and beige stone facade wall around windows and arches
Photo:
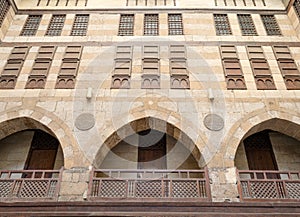
[[[168,168],[207,167],[212,200],[238,202],[236,168],[248,169],[242,141],[270,129],[274,131],[270,138],[279,169],[299,170],[300,92],[299,88],[287,90],[272,46],[289,46],[300,70],[300,18],[293,7],[287,7],[288,1],[265,0],[266,6],[256,1],[256,6],[252,1],[244,6],[237,0],[238,8],[234,1],[226,6],[221,0],[176,0],[175,6],[173,1],[166,1],[166,6],[146,6],[140,0],[138,5],[133,0],[88,0],[84,6],[85,1],[80,0],[78,6],[68,7],[55,6],[52,1],[47,6],[44,0],[39,6],[38,1],[15,1],[1,26],[0,71],[13,47],[27,45],[30,51],[15,88],[0,90],[1,169],[22,169],[32,137],[30,131],[23,130],[41,129],[55,136],[61,146],[55,166],[65,168],[59,200],[82,201],[86,199],[89,167],[136,168],[136,148],[119,142],[135,132],[155,129],[167,134],[167,149],[174,141],[180,143],[167,159]],[[159,14],[159,36],[143,35],[148,10]],[[237,14],[245,11],[251,13],[258,36],[242,36]],[[86,36],[70,36],[77,12],[90,14]],[[57,13],[66,14],[61,36],[45,36],[51,14]],[[134,36],[118,36],[123,13],[135,14]],[[182,14],[184,35],[168,35],[168,13]],[[213,13],[228,13],[232,35],[216,35]],[[42,14],[37,33],[20,36],[29,14]],[[267,35],[261,14],[275,15],[281,36]],[[226,87],[219,48],[228,44],[236,46],[246,90]],[[45,45],[57,47],[45,88],[26,89],[38,50]],[[75,88],[55,89],[66,47],[72,45],[83,47]],[[159,46],[159,89],[141,88],[145,45]],[[171,88],[172,45],[185,46],[189,89]],[[276,90],[257,90],[247,45],[262,46]],[[128,89],[111,88],[118,46],[132,46]],[[87,97],[88,90],[91,97]],[[85,131],[75,126],[83,113],[92,114],[95,122]],[[220,130],[205,126],[209,114],[222,118],[224,126]],[[12,143],[14,149],[10,149]],[[120,162],[114,159],[115,153],[121,156]],[[186,157],[181,159],[182,155]]]

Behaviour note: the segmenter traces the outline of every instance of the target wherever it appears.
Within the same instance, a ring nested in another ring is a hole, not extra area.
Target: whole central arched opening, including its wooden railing
[[[96,155],[91,197],[98,200],[210,200],[200,152],[180,129],[152,117],[113,133]]]

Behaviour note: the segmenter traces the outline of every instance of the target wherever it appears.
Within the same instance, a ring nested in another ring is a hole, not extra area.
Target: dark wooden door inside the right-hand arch
[[[244,140],[250,170],[278,170],[269,131],[262,131]]]

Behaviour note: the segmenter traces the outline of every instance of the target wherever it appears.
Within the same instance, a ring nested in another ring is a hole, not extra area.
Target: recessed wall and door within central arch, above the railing
[[[101,169],[199,170],[190,150],[173,136],[143,130],[127,136],[106,155]]]

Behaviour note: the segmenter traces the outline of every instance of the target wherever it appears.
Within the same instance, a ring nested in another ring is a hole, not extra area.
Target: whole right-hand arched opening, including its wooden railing
[[[253,127],[235,156],[244,200],[300,199],[300,126],[271,119]]]

